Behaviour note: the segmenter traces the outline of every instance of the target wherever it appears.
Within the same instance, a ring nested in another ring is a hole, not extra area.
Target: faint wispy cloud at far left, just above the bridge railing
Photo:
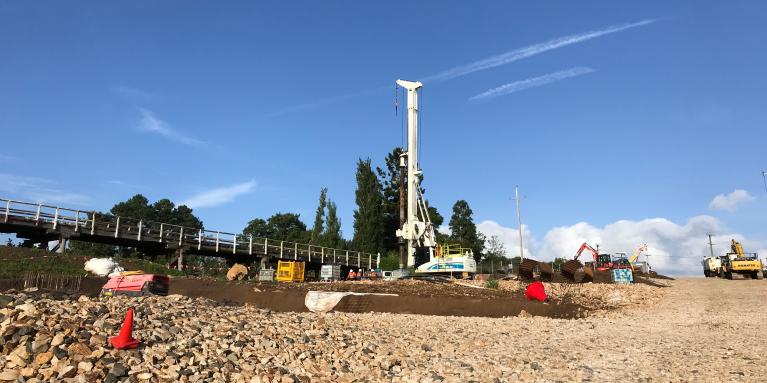
[[[90,201],[84,194],[60,189],[54,181],[8,173],[0,173],[0,193],[7,193],[6,197],[37,203],[84,205]]]

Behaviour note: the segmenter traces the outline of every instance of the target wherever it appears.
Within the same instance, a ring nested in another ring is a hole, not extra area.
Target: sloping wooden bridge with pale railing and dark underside
[[[244,236],[216,230],[190,228],[95,211],[0,198],[0,233],[13,233],[30,243],[66,241],[103,243],[137,248],[147,253],[176,252],[179,269],[184,254],[221,257],[250,263],[255,259],[298,260],[373,268],[377,255],[311,244]]]

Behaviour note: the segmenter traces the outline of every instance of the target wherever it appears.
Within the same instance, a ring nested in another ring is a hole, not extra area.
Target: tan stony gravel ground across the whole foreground
[[[668,284],[578,294],[549,286],[552,295],[594,294],[589,302],[612,308],[578,320],[272,313],[181,296],[12,293],[0,295],[0,381],[762,380],[767,283]],[[117,351],[107,339],[129,306],[144,343]]]

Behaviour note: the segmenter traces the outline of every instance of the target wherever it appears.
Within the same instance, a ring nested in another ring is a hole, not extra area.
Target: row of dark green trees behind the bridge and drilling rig
[[[242,235],[263,237],[290,242],[309,243],[338,249],[381,253],[384,264],[398,265],[399,229],[399,193],[400,172],[399,158],[402,148],[394,148],[383,161],[383,167],[374,167],[370,158],[359,159],[356,169],[356,191],[354,210],[354,233],[347,240],[341,231],[341,219],[336,203],[329,198],[328,189],[320,189],[317,210],[311,227],[301,220],[300,214],[277,212],[264,218],[253,218],[242,230]],[[406,175],[403,177],[406,180]],[[423,179],[420,180],[423,182]],[[421,188],[422,195],[426,189]],[[434,207],[428,206],[429,216],[435,228],[444,223],[444,217]],[[102,213],[107,214],[107,213]],[[203,222],[186,205],[176,206],[169,199],[160,199],[153,203],[141,194],[136,194],[126,201],[118,202],[108,214],[143,219],[155,222],[171,223],[192,228],[203,228]],[[482,257],[485,237],[477,231],[473,212],[469,203],[458,200],[453,204],[448,221],[449,233],[437,231],[438,243],[459,244],[470,248],[479,261]],[[107,245],[88,244],[72,241],[72,250],[84,253],[107,253],[114,251]],[[395,266],[396,267],[396,266]]]

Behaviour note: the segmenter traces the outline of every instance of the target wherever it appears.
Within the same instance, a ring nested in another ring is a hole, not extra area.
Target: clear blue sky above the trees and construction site
[[[767,248],[766,13],[739,1],[2,2],[0,195],[107,210],[143,193],[240,231],[278,211],[309,223],[326,186],[350,237],[355,162],[401,143],[394,80],[423,79],[421,165],[446,217],[466,199],[477,222],[515,228],[519,184],[532,242],[579,222],[705,215]],[[508,52],[530,54],[498,58]],[[710,208],[737,189],[732,211]]]

